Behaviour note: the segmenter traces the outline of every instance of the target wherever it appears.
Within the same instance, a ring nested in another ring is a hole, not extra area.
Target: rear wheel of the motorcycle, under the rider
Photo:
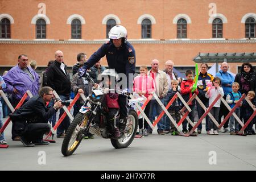
[[[111,143],[113,147],[115,148],[128,147],[131,144],[131,142],[133,142],[137,129],[138,129],[138,115],[136,111],[132,109],[129,111],[129,114],[127,117],[126,129],[123,136],[119,139],[111,139]]]

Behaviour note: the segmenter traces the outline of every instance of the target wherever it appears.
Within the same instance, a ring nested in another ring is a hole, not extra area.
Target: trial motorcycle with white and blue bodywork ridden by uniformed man
[[[94,84],[93,79],[89,74],[85,74],[85,79]],[[119,93],[122,94],[122,93]],[[129,94],[124,93],[126,97]],[[86,97],[84,105],[81,106],[79,113],[75,116],[73,121],[68,127],[68,130],[63,139],[61,152],[64,156],[72,155],[73,152],[79,147],[82,136],[86,132],[97,135],[102,138],[110,139],[114,148],[126,148],[131,142],[133,142],[134,136],[138,129],[138,115],[134,109],[130,106],[134,102],[140,102],[137,100],[128,100],[129,114],[127,117],[126,128],[122,132],[120,138],[114,138],[112,131],[108,127],[108,121],[106,120],[106,105],[105,102],[106,93],[102,88],[93,88],[92,93]],[[89,105],[89,106],[88,106]],[[116,118],[118,122],[118,117]]]

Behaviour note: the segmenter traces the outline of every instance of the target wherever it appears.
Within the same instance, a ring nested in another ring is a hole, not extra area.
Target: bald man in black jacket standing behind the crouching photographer
[[[55,52],[55,61],[50,65],[47,75],[47,84],[59,94],[62,101],[69,100],[71,92],[71,81],[67,71],[67,65],[63,62],[63,52]],[[60,117],[64,113],[60,109]],[[69,127],[69,118],[66,116],[57,128],[57,138],[64,138],[64,131]]]

